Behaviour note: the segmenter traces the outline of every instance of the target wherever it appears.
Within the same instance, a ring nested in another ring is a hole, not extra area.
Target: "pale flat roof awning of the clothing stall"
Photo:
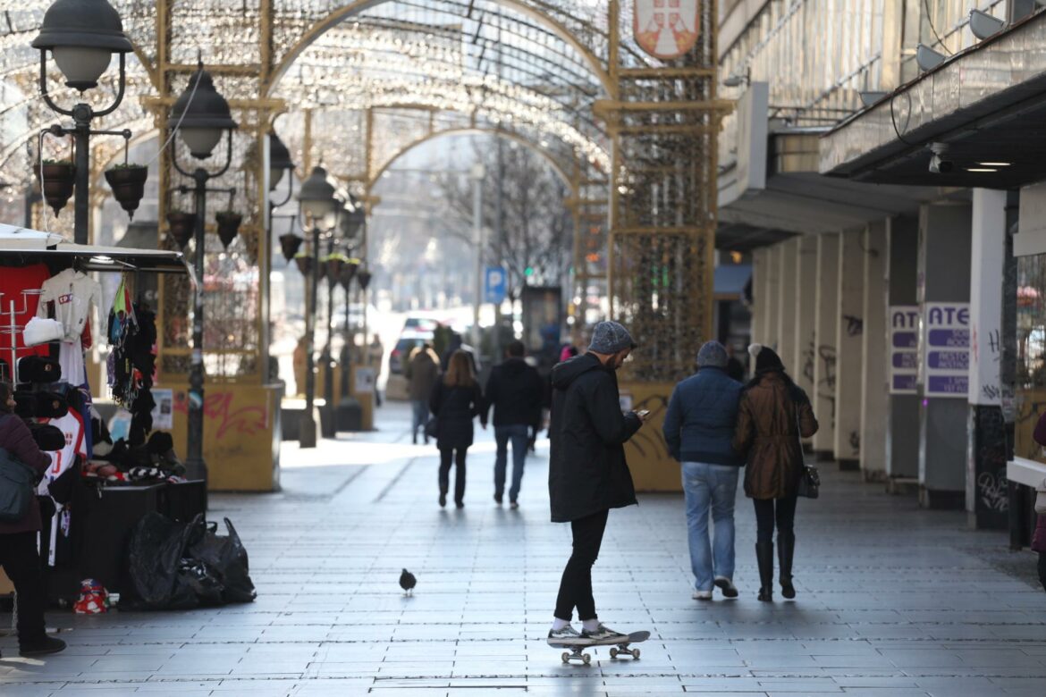
[[[76,245],[62,235],[0,223],[0,254],[77,259],[83,271],[139,271],[154,274],[185,274],[196,278],[181,252],[127,247]]]

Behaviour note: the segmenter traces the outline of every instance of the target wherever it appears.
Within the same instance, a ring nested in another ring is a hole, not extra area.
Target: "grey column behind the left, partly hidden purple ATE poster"
[[[886,222],[887,229],[887,302],[894,317],[910,331],[918,331],[917,315],[910,321],[907,311],[918,310],[918,219],[895,217]],[[892,348],[892,347],[891,347]],[[894,357],[891,352],[891,359]],[[893,371],[891,370],[890,373]],[[918,390],[899,390],[892,375],[888,375],[889,415],[886,420],[886,477],[887,490],[891,493],[912,492],[918,484]]]

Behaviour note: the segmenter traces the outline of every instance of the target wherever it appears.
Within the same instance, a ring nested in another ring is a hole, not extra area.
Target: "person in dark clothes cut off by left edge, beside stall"
[[[29,427],[14,414],[16,406],[12,387],[0,382],[0,448],[6,457],[17,459],[43,477],[51,459],[41,452],[29,433]],[[18,646],[23,656],[58,653],[65,642],[48,636],[44,625],[46,603],[44,578],[41,574],[40,555],[37,552],[37,533],[41,529],[40,506],[36,496],[29,510],[14,522],[0,522],[0,566],[15,584],[18,598]]]

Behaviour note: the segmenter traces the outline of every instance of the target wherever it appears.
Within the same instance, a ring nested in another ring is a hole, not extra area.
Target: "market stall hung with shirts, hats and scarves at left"
[[[51,457],[37,493],[52,600],[75,598],[87,578],[118,591],[128,536],[145,513],[187,520],[206,509],[204,482],[185,479],[169,433],[154,428],[169,404],[157,405],[152,391],[157,328],[140,297],[146,274],[196,284],[178,252],[75,245],[0,224],[0,379],[15,386],[18,415]],[[91,355],[106,365],[93,378]],[[95,399],[130,414],[118,437]]]

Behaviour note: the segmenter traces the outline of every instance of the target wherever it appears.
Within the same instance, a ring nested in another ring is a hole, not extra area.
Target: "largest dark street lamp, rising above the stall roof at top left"
[[[133,47],[123,33],[120,16],[106,0],[56,0],[44,14],[40,33],[32,40],[32,47],[40,49],[40,94],[47,106],[63,116],[73,119],[72,129],[54,126],[52,132],[71,135],[76,143],[76,198],[73,204],[73,239],[77,245],[87,243],[90,196],[90,137],[94,135],[122,135],[121,132],[91,131],[91,120],[96,116],[113,113],[123,100],[127,86],[127,56]],[[120,77],[113,103],[94,109],[77,103],[63,109],[47,93],[47,51],[66,78],[66,86],[78,90],[97,87],[98,78],[109,67],[113,53],[120,56]]]

